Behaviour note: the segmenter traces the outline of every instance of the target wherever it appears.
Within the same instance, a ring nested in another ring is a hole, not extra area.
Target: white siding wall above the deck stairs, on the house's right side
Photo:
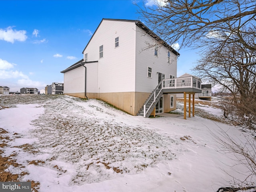
[[[154,55],[156,41],[138,26],[136,28],[136,92],[152,92],[158,85],[158,74],[177,77],[177,57],[170,50],[171,62],[168,63],[168,49],[161,46],[158,56]],[[157,43],[157,42],[156,42]],[[148,77],[148,67],[152,68],[152,78]]]

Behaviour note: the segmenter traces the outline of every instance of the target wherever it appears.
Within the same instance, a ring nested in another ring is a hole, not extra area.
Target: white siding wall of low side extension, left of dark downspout
[[[84,92],[85,68],[80,66],[64,73],[64,94]]]

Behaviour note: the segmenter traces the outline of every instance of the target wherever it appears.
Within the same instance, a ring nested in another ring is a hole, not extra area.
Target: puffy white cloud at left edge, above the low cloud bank
[[[12,30],[12,27],[0,29],[0,40],[14,43],[15,40],[26,41],[27,38],[25,30]]]

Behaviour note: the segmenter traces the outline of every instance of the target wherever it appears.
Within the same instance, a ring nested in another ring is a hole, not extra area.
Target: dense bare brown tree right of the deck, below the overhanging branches
[[[239,42],[223,48],[209,47],[193,68],[202,80],[230,92],[232,99],[225,101],[223,110],[234,120],[256,129],[256,51],[249,50]],[[229,110],[231,109],[231,110]]]

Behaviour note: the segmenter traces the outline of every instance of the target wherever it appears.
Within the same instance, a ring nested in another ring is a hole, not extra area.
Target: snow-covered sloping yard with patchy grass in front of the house
[[[247,171],[212,132],[250,135],[197,115],[143,118],[64,95],[0,96],[0,106],[1,156],[16,160],[8,172],[37,183],[34,191],[216,192]]]

